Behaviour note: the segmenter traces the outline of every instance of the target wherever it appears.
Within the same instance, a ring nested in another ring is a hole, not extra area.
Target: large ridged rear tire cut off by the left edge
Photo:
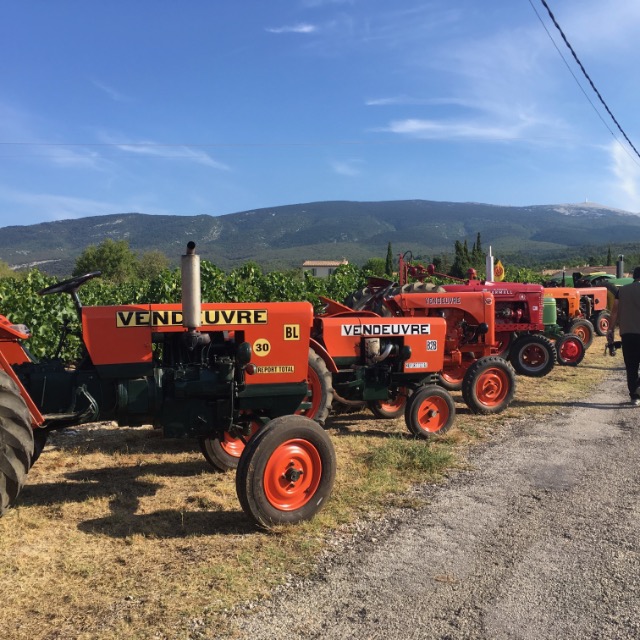
[[[0,516],[24,486],[32,457],[29,409],[15,382],[0,371]]]

